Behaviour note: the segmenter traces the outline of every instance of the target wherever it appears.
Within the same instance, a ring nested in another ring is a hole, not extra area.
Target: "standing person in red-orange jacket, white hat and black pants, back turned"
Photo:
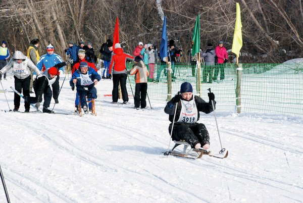
[[[115,44],[114,56],[110,65],[110,78],[112,77],[112,68],[113,68],[113,102],[118,102],[118,87],[119,82],[121,85],[122,99],[123,103],[128,102],[128,94],[126,89],[126,79],[127,79],[127,70],[126,70],[126,61],[134,61],[132,56],[129,56],[123,52],[120,43]]]

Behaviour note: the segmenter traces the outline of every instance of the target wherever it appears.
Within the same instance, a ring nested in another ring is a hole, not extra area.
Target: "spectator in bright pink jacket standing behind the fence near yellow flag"
[[[226,48],[223,47],[223,41],[219,41],[219,45],[216,47],[216,56],[218,57],[218,64],[215,68],[214,81],[217,80],[219,70],[220,70],[220,80],[224,80],[224,63],[228,61],[228,56],[226,52]]]

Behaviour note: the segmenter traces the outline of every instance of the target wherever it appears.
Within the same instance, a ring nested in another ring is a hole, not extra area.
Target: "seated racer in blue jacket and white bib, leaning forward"
[[[88,114],[88,107],[86,102],[86,96],[88,98],[97,98],[97,90],[94,87],[95,84],[100,81],[101,76],[86,62],[81,62],[79,69],[76,70],[70,80],[72,90],[74,90],[76,84],[77,92],[81,100],[81,108],[85,114]]]

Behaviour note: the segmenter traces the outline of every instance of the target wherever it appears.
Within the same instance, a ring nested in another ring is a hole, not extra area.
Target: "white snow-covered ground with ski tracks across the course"
[[[14,78],[7,78],[2,83],[10,90]],[[56,112],[74,110],[68,82]],[[0,164],[11,202],[303,202],[303,116],[217,111],[226,159],[166,157],[165,103],[135,110],[103,96],[111,94],[112,80],[97,89],[96,117],[4,112],[0,93]],[[6,95],[13,109],[14,94]],[[199,122],[218,154],[214,113]],[[0,202],[6,202],[3,188]]]

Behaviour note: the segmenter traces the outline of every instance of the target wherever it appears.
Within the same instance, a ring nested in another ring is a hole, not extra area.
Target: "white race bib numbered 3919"
[[[194,99],[190,101],[181,100],[181,106],[182,109],[178,122],[195,123],[198,119],[198,110]]]

